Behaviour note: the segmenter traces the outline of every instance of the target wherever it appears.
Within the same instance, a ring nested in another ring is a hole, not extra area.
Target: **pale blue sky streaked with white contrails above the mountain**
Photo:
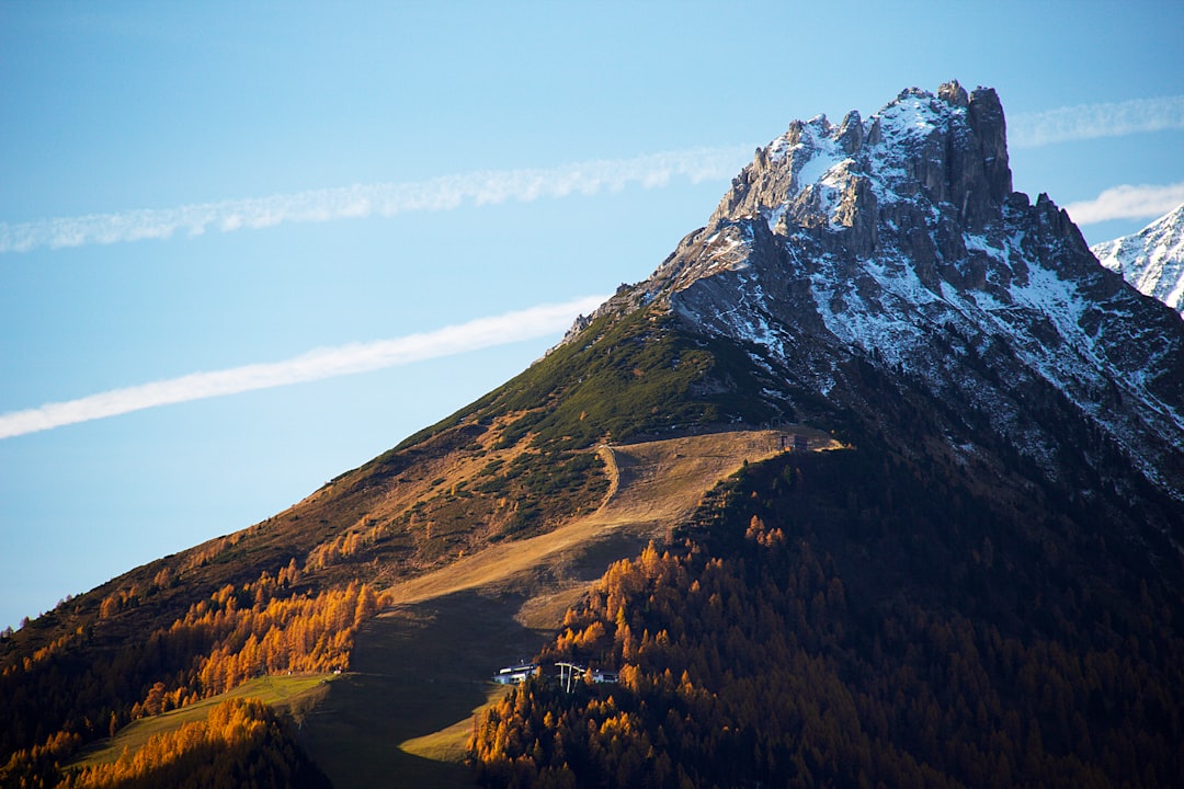
[[[509,379],[794,118],[990,85],[1017,189],[1138,229],[1184,200],[1180,30],[1166,1],[0,1],[0,627]]]

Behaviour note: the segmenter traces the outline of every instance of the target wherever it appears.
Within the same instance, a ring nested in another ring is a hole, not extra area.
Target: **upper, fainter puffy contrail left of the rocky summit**
[[[674,179],[700,182],[732,177],[751,156],[751,145],[690,148],[548,169],[490,170],[429,181],[354,185],[174,208],[0,222],[0,253],[166,239],[178,233],[227,233],[289,222],[451,211],[464,205],[489,206],[510,200],[526,202],[573,194],[593,195],[631,183],[656,188]]]

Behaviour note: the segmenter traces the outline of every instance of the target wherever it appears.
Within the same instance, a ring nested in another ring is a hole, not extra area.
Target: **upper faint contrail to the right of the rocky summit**
[[[1184,96],[1019,112],[1008,117],[1008,142],[1014,148],[1040,148],[1072,140],[1122,137],[1163,129],[1184,129]]]

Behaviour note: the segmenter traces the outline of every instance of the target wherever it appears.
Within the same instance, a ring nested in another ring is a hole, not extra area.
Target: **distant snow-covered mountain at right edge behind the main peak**
[[[1138,233],[1090,248],[1103,266],[1140,292],[1184,313],[1184,206]]]

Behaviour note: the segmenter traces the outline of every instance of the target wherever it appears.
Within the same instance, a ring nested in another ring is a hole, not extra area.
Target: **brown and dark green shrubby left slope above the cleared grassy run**
[[[121,649],[225,584],[276,574],[292,558],[303,564],[350,532],[374,532],[374,539],[316,575],[305,573],[305,586],[395,583],[489,539],[538,533],[594,507],[603,474],[584,467],[578,451],[607,436],[777,415],[745,396],[760,390],[749,360],[667,323],[645,311],[598,321],[580,342],[275,517],[135,568],[38,617],[0,644],[0,667],[76,632],[88,636],[67,649],[83,661],[96,649]],[[725,381],[747,383],[723,393]],[[532,506],[523,511],[521,503]],[[163,586],[156,583],[161,575]],[[101,620],[109,596],[128,603]]]

